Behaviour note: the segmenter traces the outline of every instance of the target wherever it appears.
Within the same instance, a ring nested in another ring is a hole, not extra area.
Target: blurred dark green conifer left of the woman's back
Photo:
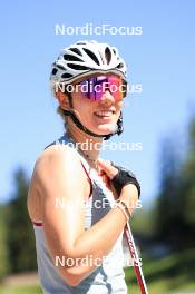
[[[22,168],[14,174],[14,186],[16,192],[7,212],[7,246],[12,273],[37,267],[35,236],[27,210],[29,180]]]

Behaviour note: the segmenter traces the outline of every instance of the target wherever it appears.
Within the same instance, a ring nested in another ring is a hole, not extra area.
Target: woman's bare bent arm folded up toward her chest
[[[124,229],[126,218],[120,209],[114,208],[85,231],[84,199],[88,183],[76,154],[65,146],[58,150],[50,147],[37,161],[36,178],[41,194],[43,231],[53,263],[56,256],[75,261],[92,256],[95,261],[108,255]],[[128,197],[137,198],[133,185],[124,187],[123,195],[127,190]],[[65,205],[57,208],[57,200]],[[80,283],[95,268],[95,264],[58,266],[65,281],[71,285]]]

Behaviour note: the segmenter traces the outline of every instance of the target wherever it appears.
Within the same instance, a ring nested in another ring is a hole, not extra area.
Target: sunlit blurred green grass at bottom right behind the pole
[[[195,249],[143,261],[149,294],[195,294]],[[126,270],[128,293],[139,294],[134,268]]]

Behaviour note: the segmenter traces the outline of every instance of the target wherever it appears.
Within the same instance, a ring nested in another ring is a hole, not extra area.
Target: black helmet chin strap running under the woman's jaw
[[[75,125],[76,125],[79,129],[84,130],[85,133],[87,133],[87,134],[90,135],[90,136],[99,137],[99,138],[104,138],[104,140],[108,140],[108,139],[109,139],[111,136],[114,136],[115,134],[118,134],[118,136],[119,136],[119,135],[123,133],[123,117],[121,117],[121,112],[120,112],[120,117],[119,117],[117,124],[116,124],[115,127],[114,127],[113,133],[110,133],[110,134],[108,134],[108,135],[98,135],[98,134],[92,133],[91,130],[89,130],[88,128],[86,128],[86,127],[80,122],[80,120],[77,118],[77,116],[75,115],[75,112],[71,111],[71,110],[65,110],[65,109],[64,109],[64,114],[65,114],[65,116],[69,116],[69,117],[72,119],[72,121],[75,122]]]

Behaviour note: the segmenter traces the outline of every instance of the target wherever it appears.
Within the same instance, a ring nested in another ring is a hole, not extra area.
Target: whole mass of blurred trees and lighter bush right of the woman
[[[148,210],[137,212],[131,219],[144,247],[153,243],[170,251],[195,246],[195,118],[188,125],[184,157],[179,147],[175,134],[162,141],[159,193]]]

